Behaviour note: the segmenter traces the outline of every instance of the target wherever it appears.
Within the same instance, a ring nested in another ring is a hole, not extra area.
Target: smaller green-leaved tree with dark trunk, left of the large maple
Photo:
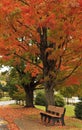
[[[14,63],[15,61],[13,62],[13,64]],[[34,107],[34,104],[33,104],[34,90],[36,86],[39,84],[37,72],[34,74],[33,73],[34,72],[32,73],[25,72],[25,62],[24,60],[20,60],[19,64],[16,63],[13,66],[13,68],[10,71],[9,77],[7,78],[7,85],[9,86],[10,96],[12,96],[13,98],[18,97],[22,99],[23,97],[25,97],[24,99],[26,101],[27,107]],[[22,88],[20,87],[20,89],[17,89],[16,86],[21,86]],[[22,91],[19,91],[19,90],[22,90]],[[19,96],[18,93],[20,93],[21,96]]]

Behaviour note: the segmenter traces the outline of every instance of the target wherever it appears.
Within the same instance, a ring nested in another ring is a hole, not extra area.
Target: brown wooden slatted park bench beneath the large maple
[[[65,125],[64,122],[64,115],[65,115],[66,108],[64,107],[57,107],[49,105],[46,112],[40,112],[41,120],[44,122],[50,123],[52,120],[53,125],[55,123],[61,123],[62,126]]]

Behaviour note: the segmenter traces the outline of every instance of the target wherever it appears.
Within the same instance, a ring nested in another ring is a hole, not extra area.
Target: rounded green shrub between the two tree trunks
[[[46,106],[47,102],[46,102],[46,97],[45,94],[43,92],[38,92],[35,98],[35,104],[36,105],[41,105],[41,106]]]

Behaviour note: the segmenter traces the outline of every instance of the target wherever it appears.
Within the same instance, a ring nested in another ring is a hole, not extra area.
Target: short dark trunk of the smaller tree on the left
[[[25,107],[34,107],[33,105],[33,89],[31,87],[26,86],[25,88],[25,93],[26,93],[26,105]]]

